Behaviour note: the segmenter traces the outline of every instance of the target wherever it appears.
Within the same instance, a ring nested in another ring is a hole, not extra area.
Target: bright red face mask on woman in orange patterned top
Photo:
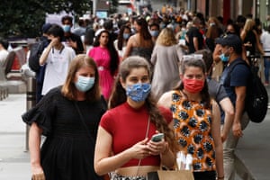
[[[204,86],[204,80],[199,79],[183,79],[184,89],[189,93],[199,93]]]

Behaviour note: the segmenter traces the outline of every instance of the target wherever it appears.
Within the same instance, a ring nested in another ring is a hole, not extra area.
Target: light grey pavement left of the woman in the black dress
[[[0,179],[31,179],[29,153],[25,151],[26,94],[9,94],[0,101]]]

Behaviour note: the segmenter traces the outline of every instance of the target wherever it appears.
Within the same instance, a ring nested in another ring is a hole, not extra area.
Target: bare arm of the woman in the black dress
[[[31,159],[31,173],[38,175],[43,173],[40,165],[40,135],[42,130],[33,122],[29,130],[29,149]]]

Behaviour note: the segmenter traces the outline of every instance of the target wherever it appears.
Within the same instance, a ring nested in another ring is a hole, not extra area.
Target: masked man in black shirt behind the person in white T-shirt
[[[85,51],[81,37],[71,32],[71,27],[73,18],[71,16],[65,15],[62,17],[62,28],[65,32],[64,41],[66,45],[75,50],[76,54],[83,53]]]

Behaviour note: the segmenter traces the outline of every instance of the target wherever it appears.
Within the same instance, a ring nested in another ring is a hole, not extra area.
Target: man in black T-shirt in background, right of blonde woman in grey
[[[203,37],[199,30],[201,20],[198,17],[193,18],[193,26],[186,32],[188,37],[189,53],[194,53],[203,48]]]

